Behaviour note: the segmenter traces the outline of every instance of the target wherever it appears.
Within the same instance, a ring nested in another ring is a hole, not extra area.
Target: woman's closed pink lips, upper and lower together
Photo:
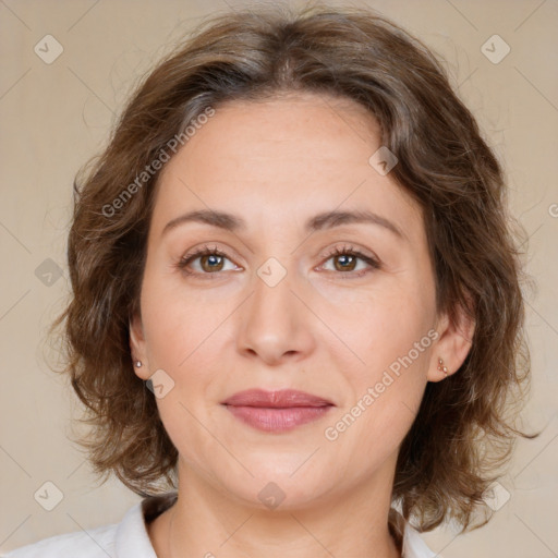
[[[292,389],[240,391],[222,402],[244,423],[264,432],[286,432],[324,416],[333,403]]]

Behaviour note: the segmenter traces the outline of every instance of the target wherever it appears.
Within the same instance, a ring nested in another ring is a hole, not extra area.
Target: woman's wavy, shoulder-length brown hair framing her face
[[[374,114],[399,159],[391,177],[424,210],[438,311],[454,317],[462,307],[476,323],[461,368],[427,384],[393,485],[417,529],[449,518],[465,529],[515,436],[527,437],[512,425],[529,386],[514,221],[500,165],[442,65],[369,10],[266,7],[204,22],[143,81],[106,150],[77,177],[73,298],[53,328],[64,324],[64,369],[94,426],[82,444],[97,473],[114,472],[137,494],[175,482],[177,449],[130,354],[160,172],[137,178],[208,107],[292,92],[348,97]]]

